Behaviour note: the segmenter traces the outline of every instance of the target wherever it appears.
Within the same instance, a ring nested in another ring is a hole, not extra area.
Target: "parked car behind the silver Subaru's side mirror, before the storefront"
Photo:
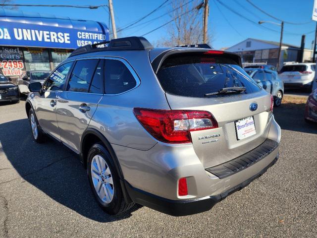
[[[38,70],[26,71],[22,73],[17,80],[20,93],[28,95],[30,93],[28,85],[35,82],[40,82],[41,84],[43,84],[49,74],[50,71]]]

